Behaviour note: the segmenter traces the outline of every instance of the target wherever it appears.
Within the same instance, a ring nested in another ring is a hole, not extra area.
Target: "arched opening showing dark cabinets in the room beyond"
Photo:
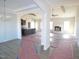
[[[28,13],[21,17],[22,35],[30,35],[40,31],[40,16],[35,13]]]

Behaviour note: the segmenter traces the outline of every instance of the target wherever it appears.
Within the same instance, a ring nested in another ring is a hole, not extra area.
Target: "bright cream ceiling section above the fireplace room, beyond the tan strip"
[[[63,8],[61,6],[57,6],[52,8],[53,11],[51,14],[56,15],[52,17],[75,17],[77,9],[76,6],[63,6]]]

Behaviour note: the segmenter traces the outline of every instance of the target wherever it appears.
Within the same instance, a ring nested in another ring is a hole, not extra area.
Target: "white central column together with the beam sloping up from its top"
[[[44,0],[33,0],[43,11],[41,20],[41,44],[44,46],[44,50],[47,50],[50,46],[50,6]]]

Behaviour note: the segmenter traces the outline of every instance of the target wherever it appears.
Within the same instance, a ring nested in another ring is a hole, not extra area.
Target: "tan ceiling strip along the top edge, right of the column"
[[[79,5],[79,0],[45,0],[50,5]]]

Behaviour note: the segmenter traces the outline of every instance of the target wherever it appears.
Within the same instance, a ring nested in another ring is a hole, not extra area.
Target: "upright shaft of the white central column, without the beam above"
[[[49,15],[45,13],[41,20],[41,44],[44,46],[44,50],[47,50],[50,46],[50,23]]]

